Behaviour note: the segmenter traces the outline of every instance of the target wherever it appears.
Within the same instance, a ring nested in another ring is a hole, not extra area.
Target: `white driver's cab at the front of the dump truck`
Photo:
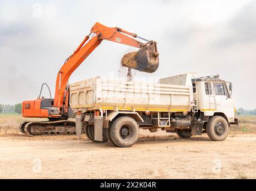
[[[193,96],[197,110],[204,116],[221,115],[229,123],[235,122],[236,107],[232,98],[231,82],[216,76],[205,76],[192,79]]]

